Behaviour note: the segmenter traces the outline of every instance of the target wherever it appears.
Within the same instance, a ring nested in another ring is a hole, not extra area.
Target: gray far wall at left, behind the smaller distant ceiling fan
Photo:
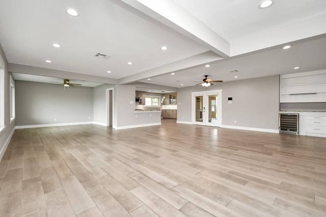
[[[63,85],[16,81],[15,91],[16,126],[93,121],[93,87],[64,90]]]

